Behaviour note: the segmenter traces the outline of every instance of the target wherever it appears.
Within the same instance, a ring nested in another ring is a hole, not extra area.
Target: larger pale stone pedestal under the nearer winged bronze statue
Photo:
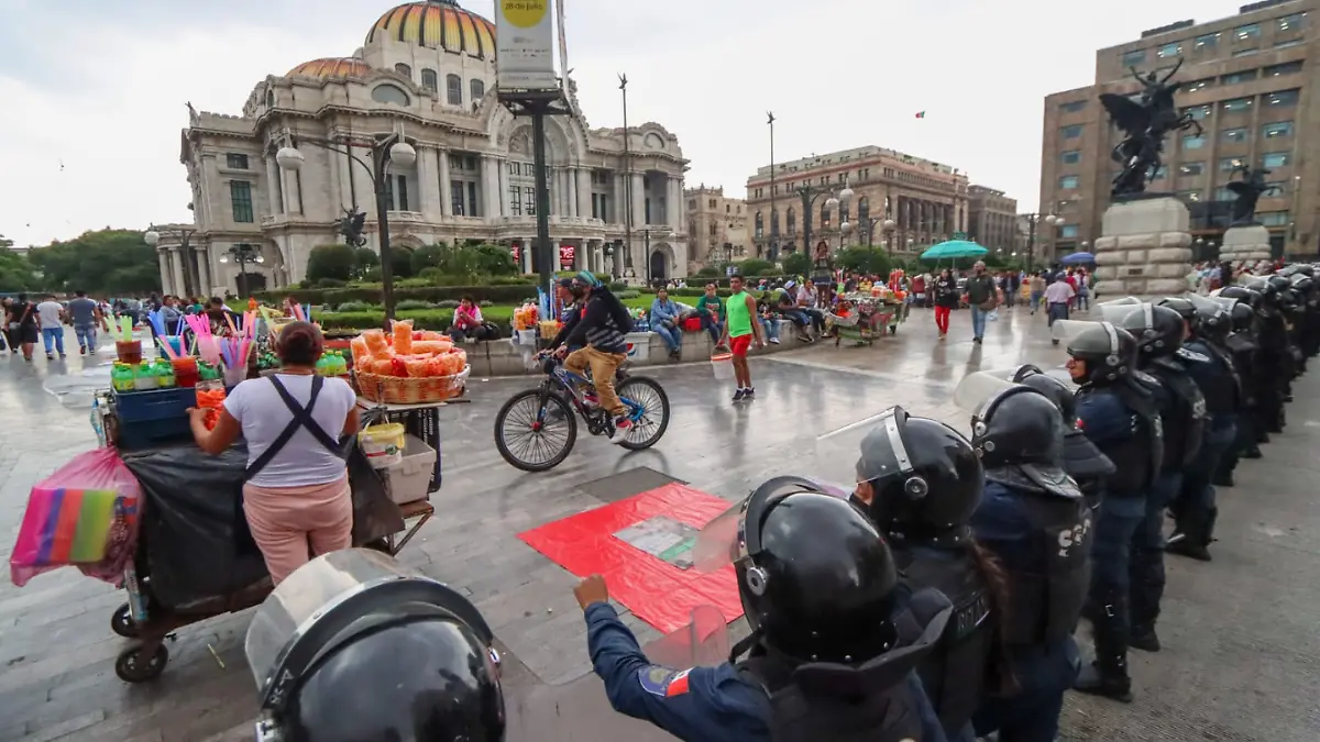
[[[1110,206],[1094,244],[1096,296],[1107,301],[1185,293],[1192,272],[1188,223],[1187,206],[1172,197]]]

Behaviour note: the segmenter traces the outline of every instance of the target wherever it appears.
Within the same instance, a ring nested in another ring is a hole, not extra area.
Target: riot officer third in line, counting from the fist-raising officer
[[[998,730],[1001,742],[1052,742],[1081,664],[1073,630],[1086,595],[1092,522],[1061,466],[1065,432],[1055,404],[1022,384],[994,393],[972,417],[972,445],[986,470],[972,531],[1007,577],[1001,632],[1018,687],[989,696],[973,724],[981,735]]]

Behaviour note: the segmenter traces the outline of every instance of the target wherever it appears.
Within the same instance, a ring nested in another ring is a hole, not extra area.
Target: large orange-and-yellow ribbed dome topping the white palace
[[[367,44],[374,40],[403,41],[478,59],[495,58],[495,24],[459,8],[454,0],[405,3],[387,11],[367,33]]]

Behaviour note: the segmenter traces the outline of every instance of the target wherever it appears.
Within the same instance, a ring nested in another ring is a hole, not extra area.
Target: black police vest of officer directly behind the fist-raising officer
[[[953,603],[953,617],[939,646],[917,667],[925,696],[950,735],[981,705],[995,643],[990,593],[970,549],[972,544],[952,547],[956,558],[939,558],[921,548],[896,543],[894,548],[894,558],[913,588],[935,588]]]

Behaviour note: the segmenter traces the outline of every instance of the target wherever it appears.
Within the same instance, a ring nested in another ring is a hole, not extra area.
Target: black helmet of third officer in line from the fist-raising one
[[[1022,384],[990,397],[972,416],[972,445],[986,469],[1015,463],[1056,466],[1063,461],[1067,432],[1055,403]]]

